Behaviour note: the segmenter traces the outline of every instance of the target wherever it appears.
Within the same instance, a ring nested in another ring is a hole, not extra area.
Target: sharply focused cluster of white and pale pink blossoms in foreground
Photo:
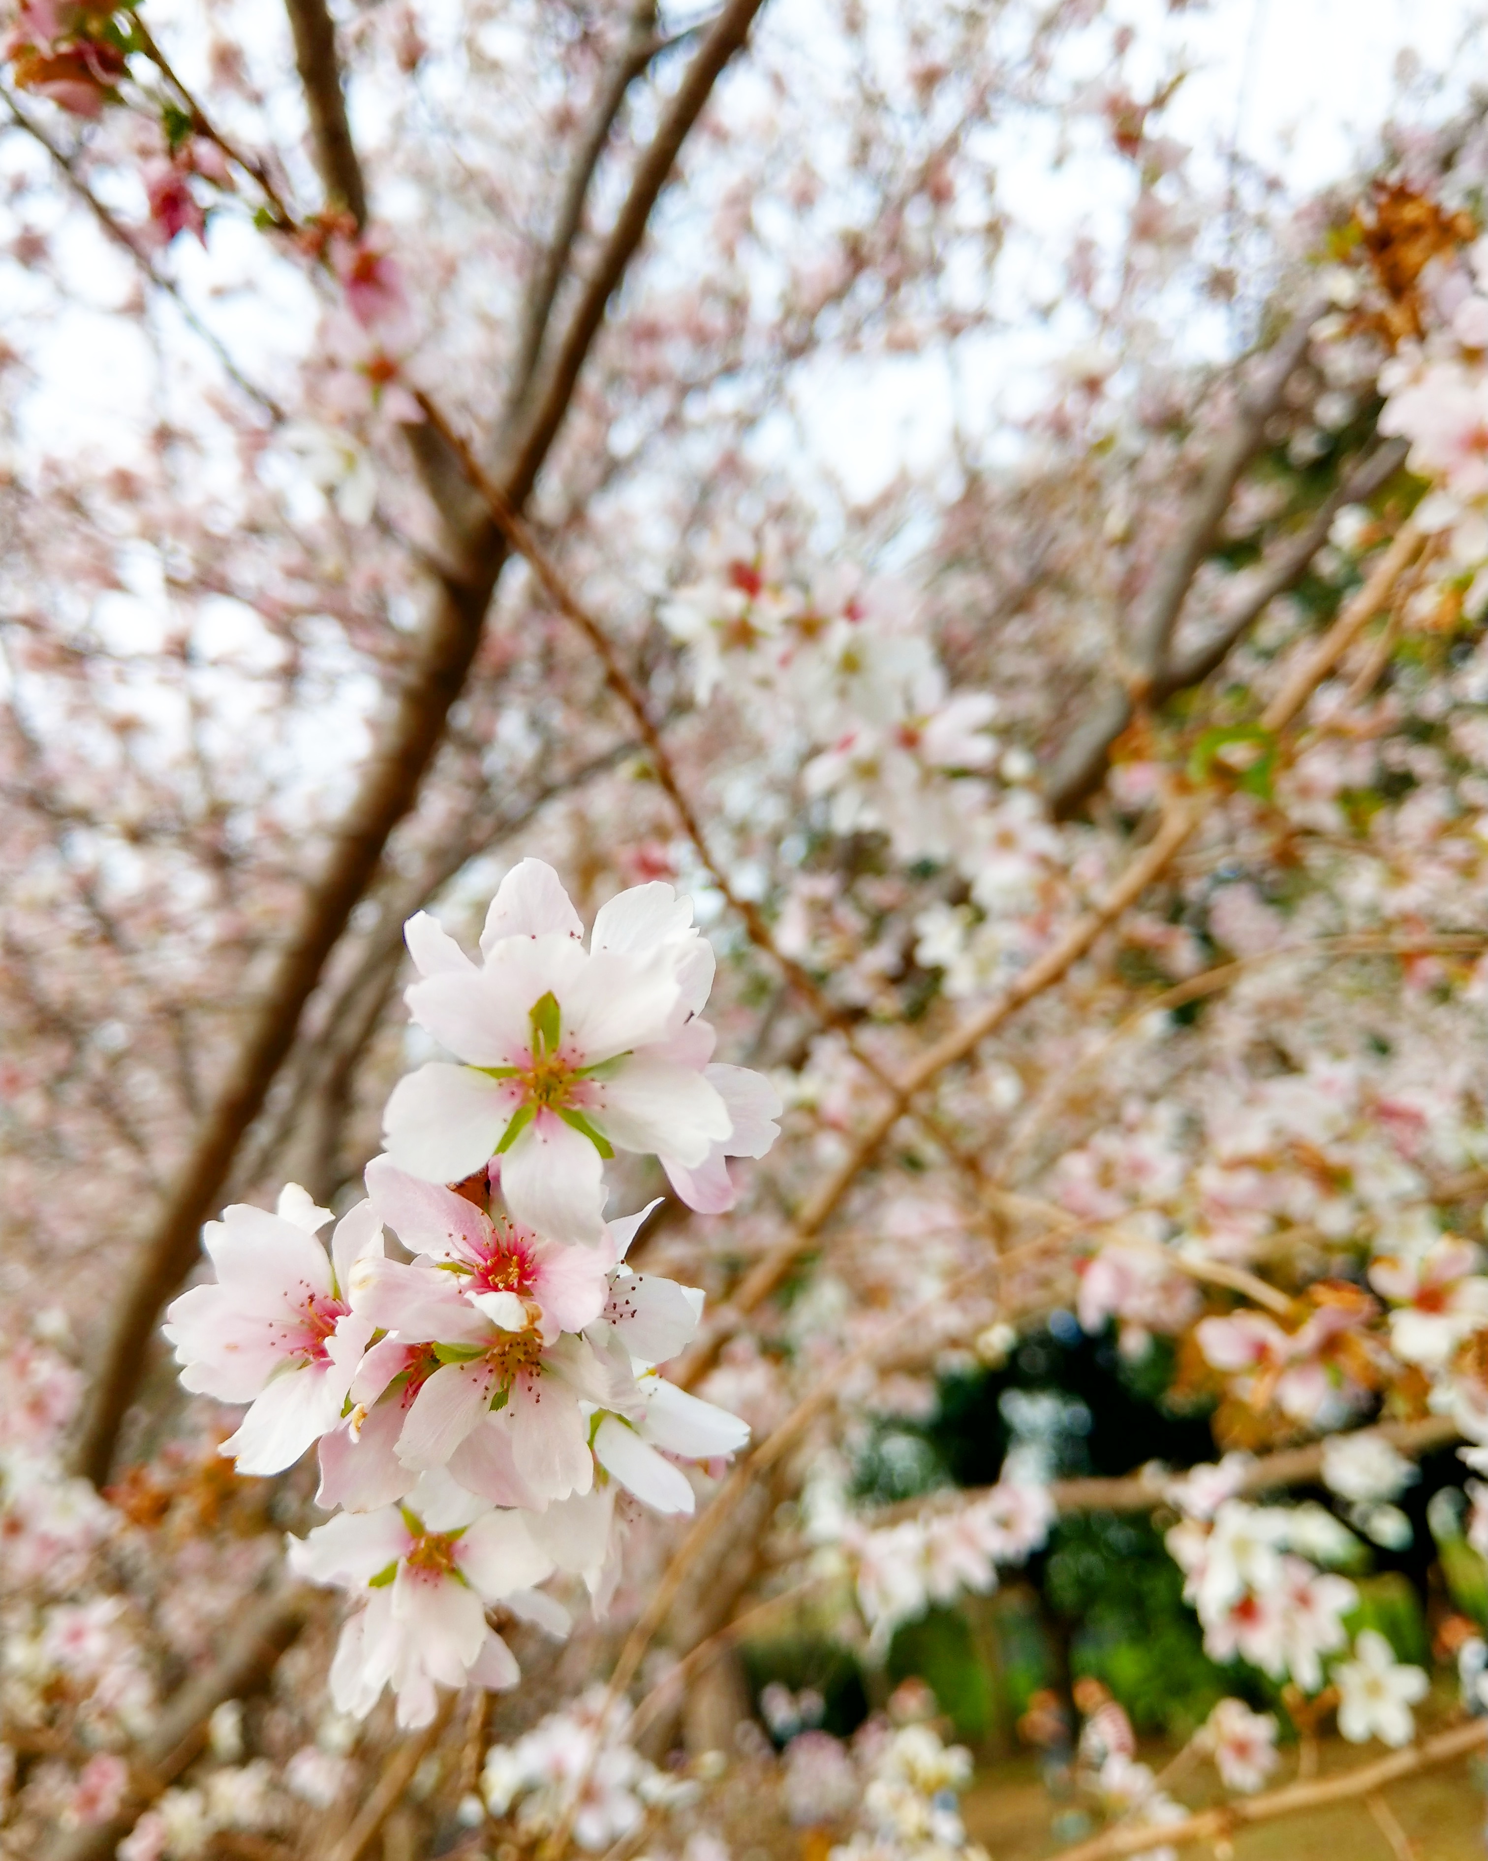
[[[670,886],[612,899],[586,949],[556,873],[526,860],[480,966],[426,914],[407,942],[409,1009],[459,1063],[394,1089],[387,1156],[335,1225],[294,1184],[275,1213],[208,1223],[216,1277],[171,1305],[166,1336],[186,1388],[247,1403],[223,1442],[240,1472],[318,1444],[337,1517],[288,1558],[359,1602],[333,1697],[366,1714],[391,1686],[400,1723],[424,1725],[439,1684],[515,1684],[489,1610],[562,1636],[541,1587],[556,1573],[604,1610],[631,1507],[692,1511],[684,1466],[744,1446],[742,1422],[658,1373],[703,1295],[625,1264],[651,1210],[606,1221],[603,1165],[653,1154],[684,1200],[722,1210],[725,1158],[763,1154],[779,1107],[712,1063],[712,953]]]

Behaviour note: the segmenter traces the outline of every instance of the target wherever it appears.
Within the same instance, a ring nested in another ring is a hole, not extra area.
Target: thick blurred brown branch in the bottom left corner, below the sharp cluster
[[[60,1833],[45,1861],[106,1861],[134,1820],[173,1783],[206,1744],[206,1721],[225,1699],[242,1699],[273,1673],[314,1606],[311,1589],[281,1589],[249,1610],[221,1658],[188,1680],[166,1705],[154,1731],[132,1753],[132,1790],[125,1814]]]

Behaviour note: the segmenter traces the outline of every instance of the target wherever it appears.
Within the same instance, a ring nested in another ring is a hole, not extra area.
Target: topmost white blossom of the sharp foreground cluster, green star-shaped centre
[[[690,919],[670,886],[638,886],[601,906],[584,951],[558,875],[538,860],[502,880],[482,968],[433,919],[411,919],[424,981],[409,1009],[465,1064],[432,1061],[400,1081],[387,1105],[392,1161],[454,1182],[498,1154],[512,1215],[582,1245],[603,1236],[612,1145],[703,1169],[733,1118],[703,1076],[712,951]],[[759,1124],[740,1141],[757,1145]]]

